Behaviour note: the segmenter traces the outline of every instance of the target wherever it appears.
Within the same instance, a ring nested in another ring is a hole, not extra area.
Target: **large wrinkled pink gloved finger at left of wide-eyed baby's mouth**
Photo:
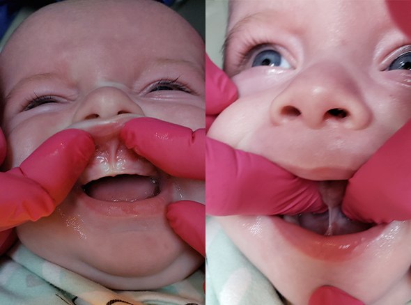
[[[316,182],[304,180],[259,155],[206,140],[206,212],[299,214],[323,212]]]

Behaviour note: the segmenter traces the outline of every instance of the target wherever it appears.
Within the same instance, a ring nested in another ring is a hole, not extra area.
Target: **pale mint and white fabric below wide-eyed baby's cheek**
[[[206,226],[207,305],[283,305],[261,272],[228,239],[217,221]]]

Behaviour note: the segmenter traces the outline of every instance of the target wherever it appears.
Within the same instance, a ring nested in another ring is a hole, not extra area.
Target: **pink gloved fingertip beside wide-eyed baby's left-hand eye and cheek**
[[[206,54],[206,114],[215,116],[238,98],[237,87]]]

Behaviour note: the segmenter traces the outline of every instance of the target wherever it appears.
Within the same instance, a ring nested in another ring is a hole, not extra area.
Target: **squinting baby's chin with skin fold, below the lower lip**
[[[182,281],[203,263],[165,219],[136,229],[123,221],[89,230],[72,215],[62,217],[63,211],[64,203],[50,217],[19,226],[20,241],[45,260],[107,288],[161,288]]]

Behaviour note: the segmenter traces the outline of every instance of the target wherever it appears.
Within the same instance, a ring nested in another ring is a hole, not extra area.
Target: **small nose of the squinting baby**
[[[74,121],[111,118],[120,114],[141,114],[143,109],[119,88],[105,86],[89,93],[75,114]]]

